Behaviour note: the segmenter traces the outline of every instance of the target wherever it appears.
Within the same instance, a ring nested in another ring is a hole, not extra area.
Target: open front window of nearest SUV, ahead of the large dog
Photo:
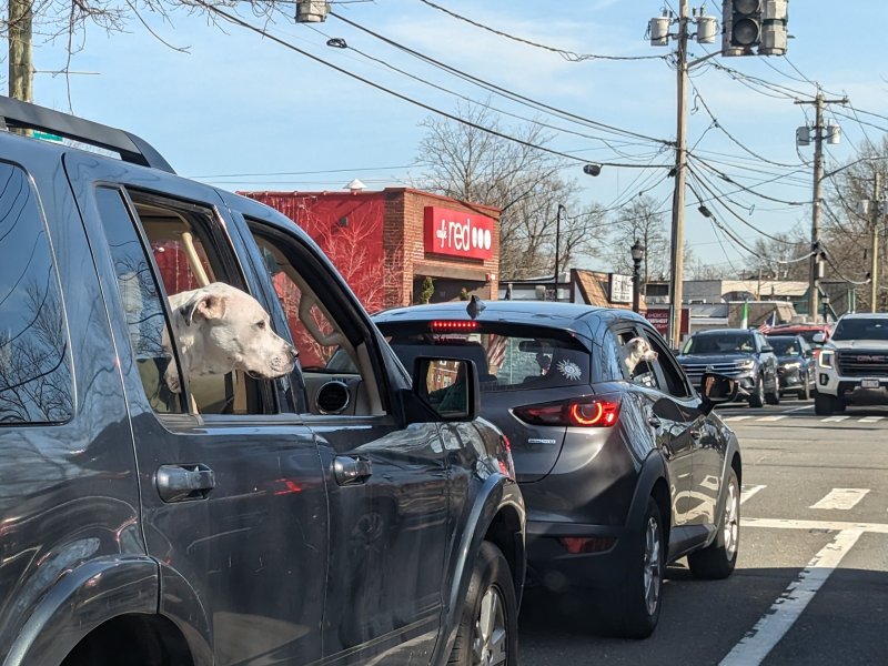
[[[314,415],[369,415],[387,411],[377,380],[369,331],[355,324],[356,316],[339,286],[325,282],[324,271],[309,250],[291,236],[248,221],[264,266],[299,351],[300,364],[293,384],[292,408]],[[347,330],[346,330],[347,329]],[[332,400],[331,386],[336,385]]]

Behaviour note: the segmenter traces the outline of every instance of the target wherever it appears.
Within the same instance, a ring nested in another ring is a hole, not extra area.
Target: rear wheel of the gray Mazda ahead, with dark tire
[[[624,638],[647,638],[657,628],[663,606],[663,575],[666,544],[663,519],[653,497],[630,545],[630,561],[637,563],[614,595],[616,617],[608,633]]]

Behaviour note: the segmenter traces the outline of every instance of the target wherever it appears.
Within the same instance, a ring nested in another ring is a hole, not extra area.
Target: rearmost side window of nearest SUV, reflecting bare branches
[[[59,423],[73,410],[59,276],[27,174],[0,163],[0,425]]]

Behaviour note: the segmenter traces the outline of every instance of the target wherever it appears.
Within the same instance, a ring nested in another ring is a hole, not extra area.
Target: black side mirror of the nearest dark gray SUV
[[[481,412],[478,371],[474,361],[417,356],[412,393],[441,421],[474,421]]]

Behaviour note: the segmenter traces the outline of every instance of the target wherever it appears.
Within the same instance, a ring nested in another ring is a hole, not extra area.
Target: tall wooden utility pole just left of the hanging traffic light
[[[675,190],[673,191],[672,252],[669,264],[669,343],[682,342],[682,281],[685,263],[685,161],[687,159],[687,23],[688,0],[678,3],[678,46],[676,49],[678,121],[675,130]]]

